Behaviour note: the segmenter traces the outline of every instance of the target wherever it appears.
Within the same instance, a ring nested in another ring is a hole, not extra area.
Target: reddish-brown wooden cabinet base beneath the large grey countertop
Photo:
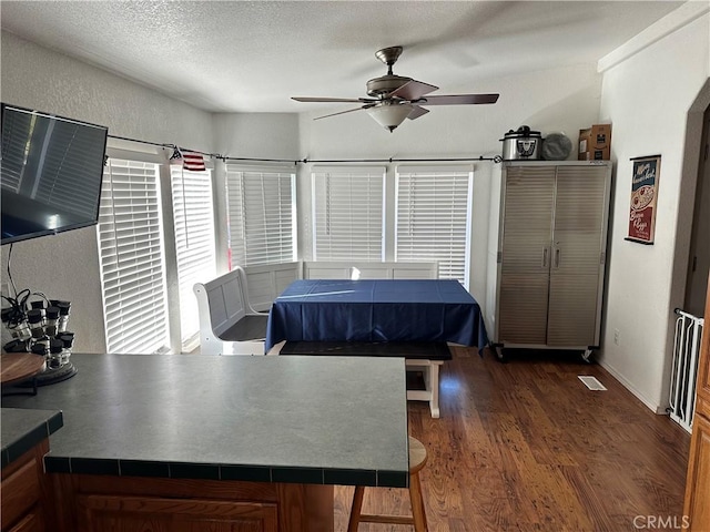
[[[333,487],[51,474],[59,532],[333,532]]]

